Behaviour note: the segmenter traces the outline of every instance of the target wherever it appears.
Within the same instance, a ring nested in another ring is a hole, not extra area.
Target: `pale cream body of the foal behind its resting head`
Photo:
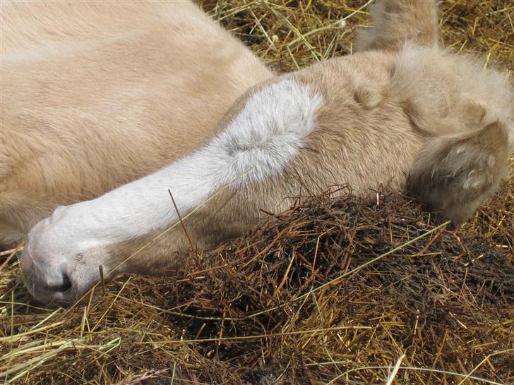
[[[1,7],[0,244],[191,151],[271,76],[189,1]]]

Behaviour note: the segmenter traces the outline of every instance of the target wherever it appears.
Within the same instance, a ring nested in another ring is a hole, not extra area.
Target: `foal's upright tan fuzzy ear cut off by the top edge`
[[[361,27],[356,51],[398,51],[407,42],[436,46],[439,40],[434,0],[379,0],[370,9],[373,27]]]

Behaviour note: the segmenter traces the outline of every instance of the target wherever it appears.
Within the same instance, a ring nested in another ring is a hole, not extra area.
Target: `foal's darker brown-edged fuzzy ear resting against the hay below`
[[[434,139],[422,151],[407,188],[424,204],[461,224],[508,174],[508,137],[498,122],[465,135]]]

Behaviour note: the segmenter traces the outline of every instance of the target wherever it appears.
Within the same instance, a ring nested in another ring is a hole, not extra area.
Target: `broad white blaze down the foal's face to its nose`
[[[30,255],[60,265],[92,247],[174,224],[168,190],[184,215],[229,183],[246,185],[279,173],[304,145],[321,103],[292,77],[258,90],[205,147],[95,200],[56,209],[30,232]]]

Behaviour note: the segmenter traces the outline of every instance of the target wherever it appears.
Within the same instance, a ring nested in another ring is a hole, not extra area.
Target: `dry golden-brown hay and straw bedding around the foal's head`
[[[203,1],[277,71],[352,51],[364,1]],[[514,71],[510,1],[444,1],[443,37]],[[345,20],[341,23],[340,20]],[[458,231],[399,195],[302,198],[172,278],[71,309],[0,258],[0,381],[514,384],[514,181]]]

